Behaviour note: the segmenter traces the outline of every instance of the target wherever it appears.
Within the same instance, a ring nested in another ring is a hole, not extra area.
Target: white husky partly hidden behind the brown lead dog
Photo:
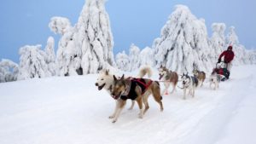
[[[137,77],[143,78],[146,74],[148,74],[148,78],[152,76],[152,70],[150,66],[142,67]],[[108,94],[111,95],[111,91],[113,88],[113,74],[110,74],[109,70],[102,70],[96,80],[96,86],[98,87],[98,90],[105,89],[108,91]],[[129,110],[134,107],[134,103],[135,101],[131,102],[131,107],[129,108]]]

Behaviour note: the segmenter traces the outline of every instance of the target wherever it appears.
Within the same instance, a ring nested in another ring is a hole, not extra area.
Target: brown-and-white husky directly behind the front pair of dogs
[[[158,71],[160,76],[159,80],[164,81],[164,85],[165,85],[165,89],[163,91],[164,94],[169,95],[168,89],[170,87],[170,84],[172,84],[172,92],[171,92],[172,94],[176,89],[176,85],[177,85],[177,80],[178,80],[177,72],[169,71],[165,66],[160,66]]]

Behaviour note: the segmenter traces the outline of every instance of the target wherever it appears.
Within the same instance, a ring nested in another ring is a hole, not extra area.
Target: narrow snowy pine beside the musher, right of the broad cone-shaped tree
[[[212,54],[214,54],[214,57],[212,58],[212,60],[216,62],[218,60],[218,55],[220,55],[226,49],[225,36],[224,36],[225,29],[226,29],[226,26],[224,23],[212,24],[211,47],[212,47]]]

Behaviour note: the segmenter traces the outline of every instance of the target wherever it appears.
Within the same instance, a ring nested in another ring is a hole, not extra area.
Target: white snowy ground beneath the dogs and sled
[[[206,83],[195,98],[164,95],[164,112],[149,98],[137,118],[130,101],[116,124],[114,101],[96,75],[0,84],[0,144],[254,144],[256,66],[234,67],[220,89]],[[154,79],[157,73],[154,72]]]

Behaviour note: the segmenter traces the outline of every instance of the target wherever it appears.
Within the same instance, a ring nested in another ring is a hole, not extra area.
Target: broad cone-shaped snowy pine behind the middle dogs
[[[155,47],[157,66],[172,71],[192,72],[193,64],[212,70],[211,50],[204,20],[198,20],[188,7],[177,5],[161,30]]]

